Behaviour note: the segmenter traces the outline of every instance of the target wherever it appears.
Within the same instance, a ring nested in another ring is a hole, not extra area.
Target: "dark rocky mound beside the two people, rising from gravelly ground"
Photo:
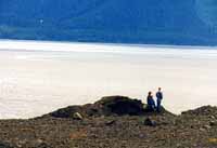
[[[126,96],[106,96],[102,97],[94,104],[84,106],[69,106],[51,112],[50,116],[55,118],[73,118],[75,112],[79,112],[84,117],[100,116],[140,116],[149,111],[144,108],[139,99],[132,99]],[[149,112],[150,113],[150,112]],[[153,113],[153,112],[151,112]],[[162,108],[162,113],[170,113]]]

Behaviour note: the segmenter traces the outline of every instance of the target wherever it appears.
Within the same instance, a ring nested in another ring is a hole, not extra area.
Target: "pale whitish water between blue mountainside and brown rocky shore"
[[[0,118],[33,118],[106,95],[145,102],[163,88],[175,112],[217,105],[217,50],[0,41]]]

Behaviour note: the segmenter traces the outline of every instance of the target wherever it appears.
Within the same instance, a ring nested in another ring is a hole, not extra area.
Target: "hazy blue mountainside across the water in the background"
[[[216,45],[216,6],[213,0],[1,0],[0,38]]]

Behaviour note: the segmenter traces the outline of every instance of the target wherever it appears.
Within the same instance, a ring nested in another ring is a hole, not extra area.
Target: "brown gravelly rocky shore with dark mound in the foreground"
[[[0,148],[217,147],[217,107],[175,116],[146,112],[142,106],[138,99],[110,96],[35,119],[0,120]]]

